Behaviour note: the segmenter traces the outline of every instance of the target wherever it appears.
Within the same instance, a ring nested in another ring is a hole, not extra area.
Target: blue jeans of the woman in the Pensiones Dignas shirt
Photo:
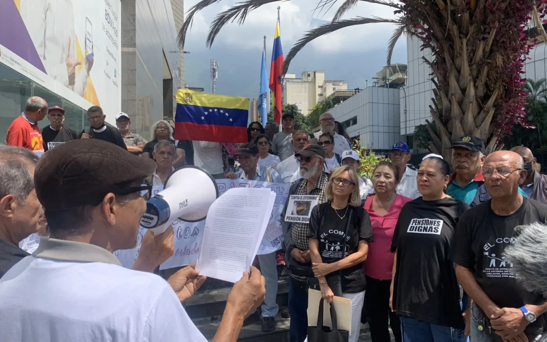
[[[469,338],[463,334],[463,329],[437,326],[415,320],[414,318],[400,317],[403,342],[468,342]],[[475,342],[475,341],[473,341]]]

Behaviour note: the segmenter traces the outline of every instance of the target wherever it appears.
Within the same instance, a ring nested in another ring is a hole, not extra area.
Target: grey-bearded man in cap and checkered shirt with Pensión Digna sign
[[[329,174],[323,172],[325,150],[321,146],[306,145],[294,156],[300,164],[302,178],[290,186],[287,202],[281,212],[281,226],[285,263],[289,272],[290,341],[303,342],[307,335],[307,280],[310,275],[313,275],[310,240],[307,237],[309,223],[288,222],[285,221],[285,216],[290,196],[316,196],[317,204],[327,201],[325,190],[329,182]]]

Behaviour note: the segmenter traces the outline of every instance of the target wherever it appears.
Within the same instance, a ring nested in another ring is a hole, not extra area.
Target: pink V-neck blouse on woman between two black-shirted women
[[[389,207],[386,215],[380,216],[371,209],[374,196],[366,199],[364,208],[369,213],[370,222],[373,224],[374,242],[369,242],[369,253],[363,264],[365,275],[380,280],[391,280],[393,271],[393,253],[391,241],[395,224],[399,219],[401,208],[412,199],[403,195],[395,195],[395,199]]]

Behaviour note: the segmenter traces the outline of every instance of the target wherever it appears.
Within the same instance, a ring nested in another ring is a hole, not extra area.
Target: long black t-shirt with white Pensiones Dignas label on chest
[[[448,256],[458,219],[468,209],[453,198],[421,197],[401,209],[391,244],[391,251],[397,251],[393,302],[398,315],[465,328],[456,271]]]

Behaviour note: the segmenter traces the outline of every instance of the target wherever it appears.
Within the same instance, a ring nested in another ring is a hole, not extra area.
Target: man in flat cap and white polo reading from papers
[[[142,194],[150,190],[141,182],[154,168],[100,140],[44,154],[34,185],[50,237],[0,279],[2,340],[206,341],[181,305],[203,282],[199,271],[187,268],[185,280],[170,285],[124,269],[112,254],[136,245]],[[235,341],[243,318],[264,300],[264,278],[251,271],[235,283],[214,340]]]

